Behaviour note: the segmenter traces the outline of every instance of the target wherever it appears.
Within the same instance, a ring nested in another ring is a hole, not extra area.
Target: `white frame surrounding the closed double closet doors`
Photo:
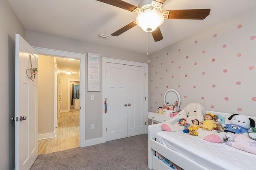
[[[106,114],[105,114],[105,106],[104,101],[106,98],[106,63],[116,63],[116,64],[125,64],[125,65],[133,65],[138,67],[145,68],[145,133],[148,133],[148,63],[140,63],[135,61],[127,61],[122,59],[114,59],[114,58],[107,58],[102,57],[102,142],[106,142]],[[107,99],[108,103],[108,99]]]

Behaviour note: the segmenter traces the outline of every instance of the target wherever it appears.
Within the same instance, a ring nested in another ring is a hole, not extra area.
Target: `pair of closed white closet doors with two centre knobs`
[[[106,63],[106,141],[145,133],[145,68]]]

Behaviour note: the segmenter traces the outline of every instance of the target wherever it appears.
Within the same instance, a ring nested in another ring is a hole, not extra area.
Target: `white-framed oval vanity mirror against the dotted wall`
[[[164,94],[164,105],[175,105],[178,102],[180,107],[180,94],[174,89],[169,89]]]

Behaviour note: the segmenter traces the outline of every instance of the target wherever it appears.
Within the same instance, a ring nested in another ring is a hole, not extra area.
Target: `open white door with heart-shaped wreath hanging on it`
[[[38,156],[38,67],[34,49],[16,34],[15,51],[15,169],[28,170]]]

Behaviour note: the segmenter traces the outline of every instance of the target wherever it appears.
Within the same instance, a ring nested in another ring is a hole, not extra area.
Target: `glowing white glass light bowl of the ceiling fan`
[[[156,10],[147,10],[136,18],[136,24],[145,32],[153,32],[163,22],[164,16]]]

